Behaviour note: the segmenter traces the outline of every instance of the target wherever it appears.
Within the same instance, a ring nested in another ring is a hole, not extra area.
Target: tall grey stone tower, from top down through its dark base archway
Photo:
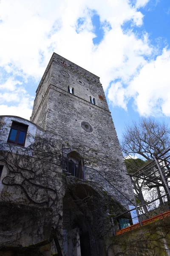
[[[64,255],[102,255],[103,239],[112,229],[108,213],[113,209],[119,215],[131,204],[102,84],[98,76],[54,53],[36,93],[31,121],[57,134],[62,143],[61,174],[66,179],[58,178],[63,187],[66,184],[60,203]],[[111,207],[105,194],[112,197]]]

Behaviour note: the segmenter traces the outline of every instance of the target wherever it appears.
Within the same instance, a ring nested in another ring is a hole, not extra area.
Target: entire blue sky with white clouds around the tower
[[[169,0],[1,0],[0,114],[29,119],[53,52],[100,77],[119,139],[140,116],[170,124]]]

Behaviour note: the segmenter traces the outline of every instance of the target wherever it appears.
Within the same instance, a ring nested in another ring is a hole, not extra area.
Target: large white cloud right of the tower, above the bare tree
[[[153,61],[144,64],[138,75],[124,88],[112,84],[109,99],[125,110],[129,99],[135,100],[140,115],[170,116],[170,50],[164,49]]]

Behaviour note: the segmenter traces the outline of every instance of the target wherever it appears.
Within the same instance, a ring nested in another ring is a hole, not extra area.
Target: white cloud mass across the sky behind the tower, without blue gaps
[[[127,109],[133,97],[142,115],[161,111],[170,115],[167,49],[155,61],[146,61],[145,57],[150,59],[155,52],[147,33],[139,38],[132,31],[122,30],[129,20],[135,26],[142,25],[138,8],[148,1],[137,0],[132,7],[129,0],[1,0],[0,67],[7,79],[0,84],[0,113],[30,117],[32,97],[26,91],[21,93],[21,87],[25,88],[30,77],[38,83],[55,51],[100,76],[105,90],[111,83],[108,98],[113,105]],[[91,22],[94,11],[101,22],[111,26],[97,46],[93,44],[96,35]],[[79,18],[84,23],[78,28]],[[115,79],[119,80],[114,84]],[[159,93],[161,83],[166,95]],[[21,96],[25,102],[21,103]]]

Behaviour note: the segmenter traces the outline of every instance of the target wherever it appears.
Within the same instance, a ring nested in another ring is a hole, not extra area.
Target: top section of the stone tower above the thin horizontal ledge
[[[45,93],[48,91],[50,84],[66,91],[68,90],[68,85],[74,87],[75,95],[88,102],[90,100],[89,96],[95,97],[97,105],[108,110],[105,93],[99,82],[99,77],[73,64],[71,61],[67,60],[68,65],[62,64],[63,62],[65,63],[65,59],[62,58],[61,60],[61,58],[61,56],[54,53],[42,76],[34,100],[31,121],[35,122],[37,114],[40,113],[38,108],[43,104]],[[73,65],[75,66],[74,68],[72,67]],[[43,105],[45,106],[45,104]]]

